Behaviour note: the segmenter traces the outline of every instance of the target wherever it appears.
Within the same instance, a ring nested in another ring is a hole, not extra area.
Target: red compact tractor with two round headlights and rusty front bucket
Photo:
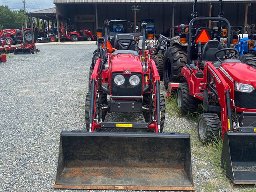
[[[86,95],[87,131],[61,133],[54,188],[194,190],[189,134],[162,133],[165,102],[154,60],[135,51],[136,34],[108,34],[108,24]],[[145,42],[146,22],[142,30]],[[143,113],[145,122],[104,121],[111,112]],[[99,132],[105,128],[111,131]],[[113,132],[120,128],[148,132]]]

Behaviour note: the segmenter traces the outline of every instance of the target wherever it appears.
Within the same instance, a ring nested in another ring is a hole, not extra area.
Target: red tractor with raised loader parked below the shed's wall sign
[[[60,24],[60,38],[71,41],[78,41],[79,39],[86,41],[96,40],[92,32],[88,30],[80,29],[79,32],[72,29],[65,30],[63,22]]]

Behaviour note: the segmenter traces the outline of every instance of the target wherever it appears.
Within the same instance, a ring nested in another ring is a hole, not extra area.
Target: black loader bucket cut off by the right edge
[[[256,184],[256,133],[225,132],[221,164],[234,184]]]

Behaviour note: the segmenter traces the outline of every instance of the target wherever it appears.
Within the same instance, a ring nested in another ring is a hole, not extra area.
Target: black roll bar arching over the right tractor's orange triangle
[[[195,17],[193,18],[190,22],[189,22],[189,26],[188,26],[188,62],[187,64],[190,64],[190,60],[191,60],[191,41],[192,41],[192,25],[194,23],[194,21],[196,20],[218,20],[218,21],[224,21],[228,24],[228,37],[227,37],[227,45],[228,48],[230,48],[230,22],[223,17]]]

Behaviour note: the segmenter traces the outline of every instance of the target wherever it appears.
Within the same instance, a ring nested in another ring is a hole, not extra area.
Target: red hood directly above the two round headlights
[[[140,62],[140,57],[134,54],[118,54],[112,56],[111,62],[111,73],[113,72],[124,72],[128,71],[130,74],[132,72],[142,73],[142,64]]]

